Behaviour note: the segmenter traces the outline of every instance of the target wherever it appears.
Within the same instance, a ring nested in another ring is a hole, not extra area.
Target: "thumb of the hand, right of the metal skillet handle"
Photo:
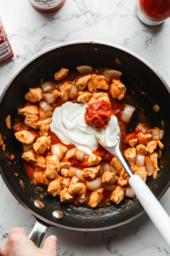
[[[57,255],[57,237],[48,236],[43,242],[42,250],[46,251],[48,254],[51,253],[51,256]]]

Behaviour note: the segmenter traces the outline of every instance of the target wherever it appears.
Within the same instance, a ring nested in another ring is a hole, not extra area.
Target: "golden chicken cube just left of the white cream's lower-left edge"
[[[36,143],[33,143],[33,148],[36,154],[43,154],[46,149],[50,148],[50,144],[49,137],[38,137]]]

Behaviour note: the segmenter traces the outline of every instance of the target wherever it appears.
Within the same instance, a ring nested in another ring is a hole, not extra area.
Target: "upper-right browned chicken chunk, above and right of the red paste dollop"
[[[121,83],[120,79],[113,79],[110,87],[111,96],[113,99],[118,99],[119,101],[124,98],[127,90],[124,84]]]

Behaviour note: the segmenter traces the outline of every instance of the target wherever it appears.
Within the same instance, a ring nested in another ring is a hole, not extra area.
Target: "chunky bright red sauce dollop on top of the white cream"
[[[94,102],[86,108],[84,119],[87,125],[93,125],[94,128],[101,130],[109,125],[111,115],[115,115],[109,104],[104,100]]]

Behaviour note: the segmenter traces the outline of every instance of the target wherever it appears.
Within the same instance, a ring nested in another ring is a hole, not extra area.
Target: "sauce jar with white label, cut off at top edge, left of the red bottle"
[[[42,13],[53,13],[64,5],[65,0],[30,0],[30,3]]]

